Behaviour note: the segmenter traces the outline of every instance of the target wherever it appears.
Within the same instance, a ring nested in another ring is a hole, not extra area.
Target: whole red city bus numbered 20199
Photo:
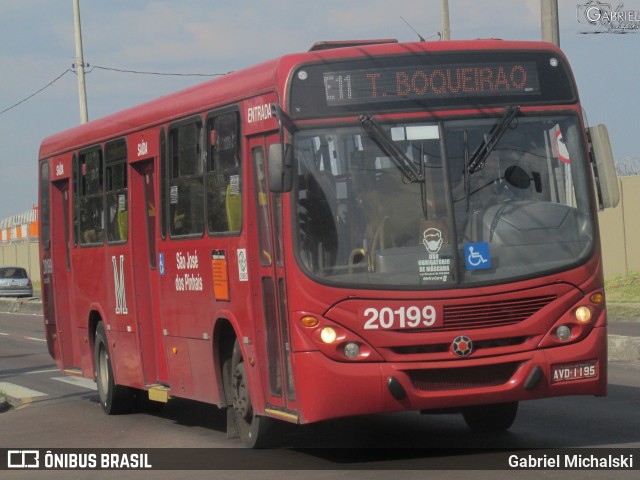
[[[248,446],[404,410],[504,430],[606,394],[612,166],[550,44],[319,43],[43,141],[49,351],[108,414],[195,399]]]

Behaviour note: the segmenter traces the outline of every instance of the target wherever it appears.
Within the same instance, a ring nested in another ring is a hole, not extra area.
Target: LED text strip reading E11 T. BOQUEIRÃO
[[[537,95],[535,62],[457,63],[323,72],[327,106],[401,99]]]

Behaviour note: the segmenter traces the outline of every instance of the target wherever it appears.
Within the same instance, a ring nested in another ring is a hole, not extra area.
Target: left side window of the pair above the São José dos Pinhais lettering
[[[199,120],[169,131],[169,227],[173,236],[204,229],[201,131]]]

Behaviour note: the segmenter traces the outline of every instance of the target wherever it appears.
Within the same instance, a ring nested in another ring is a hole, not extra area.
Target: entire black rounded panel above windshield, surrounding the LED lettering
[[[289,111],[317,118],[577,100],[569,67],[552,52],[423,52],[301,65]]]

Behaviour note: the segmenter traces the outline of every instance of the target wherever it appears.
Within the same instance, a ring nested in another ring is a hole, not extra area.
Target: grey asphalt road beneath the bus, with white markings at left
[[[170,456],[176,448],[207,449],[206,456],[219,461],[220,468],[245,469],[208,472],[216,479],[280,479],[284,474],[304,479],[388,480],[389,469],[402,478],[431,477],[425,472],[428,469],[438,469],[437,478],[540,478],[542,472],[513,471],[504,465],[505,455],[513,449],[524,455],[535,449],[625,448],[633,449],[628,451],[635,452],[640,464],[640,362],[610,363],[607,397],[522,403],[514,426],[503,434],[470,434],[459,415],[385,414],[302,427],[282,425],[276,433],[283,448],[256,452],[243,449],[238,440],[228,440],[224,413],[198,402],[175,399],[157,414],[104,415],[93,382],[62,376],[43,340],[41,316],[0,313],[0,390],[3,384],[27,389],[21,407],[0,414],[0,450],[163,448],[168,450],[161,454]],[[469,468],[473,471],[465,470]],[[0,475],[3,479],[87,478],[87,473],[6,471]],[[629,471],[587,473],[589,477],[637,476]],[[118,479],[159,474],[166,473],[91,472],[95,478]],[[178,476],[202,478],[203,474],[186,471]],[[551,469],[544,476],[582,480],[585,472]]]

